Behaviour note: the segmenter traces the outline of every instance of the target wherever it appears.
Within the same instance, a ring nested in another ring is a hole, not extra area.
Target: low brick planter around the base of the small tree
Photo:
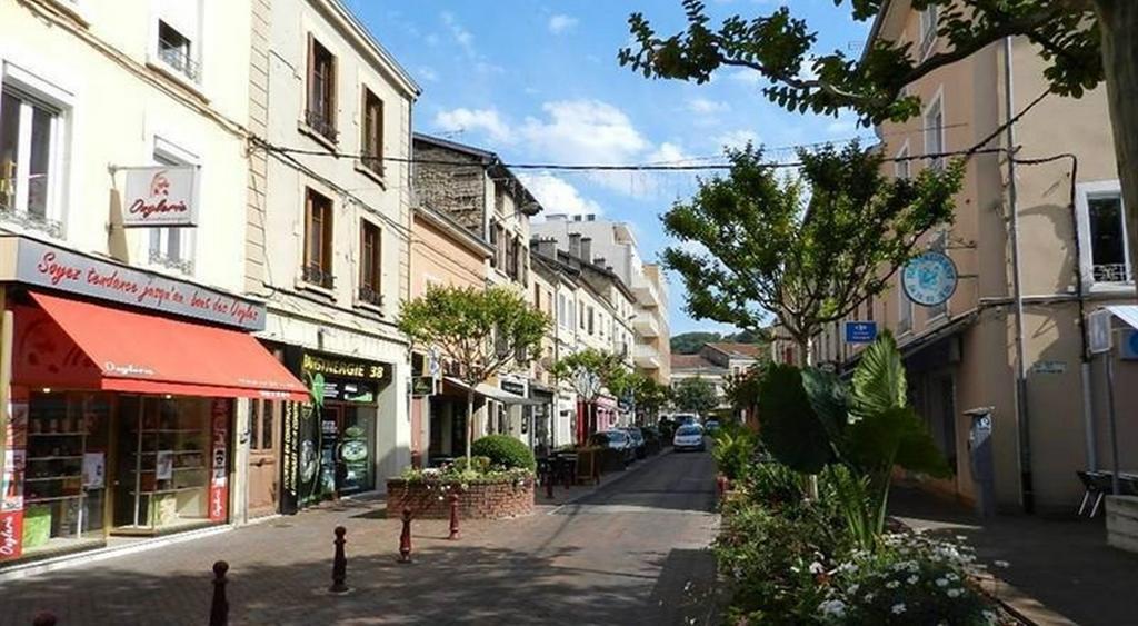
[[[444,489],[450,486],[450,489]],[[407,481],[402,478],[387,480],[387,517],[397,519],[403,508],[420,519],[448,519],[448,495],[455,484],[438,481]],[[504,519],[534,512],[534,479],[527,478],[518,486],[513,483],[471,483],[459,491],[459,519]]]

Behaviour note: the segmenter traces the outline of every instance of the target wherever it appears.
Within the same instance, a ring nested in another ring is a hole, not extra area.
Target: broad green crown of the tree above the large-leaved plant
[[[801,179],[780,178],[750,146],[728,150],[726,178],[663,215],[684,244],[663,264],[687,288],[687,311],[760,331],[769,314],[809,355],[824,324],[885,289],[927,230],[953,216],[963,166],[885,180],[882,157],[852,143],[799,151]],[[701,249],[702,248],[702,249]]]

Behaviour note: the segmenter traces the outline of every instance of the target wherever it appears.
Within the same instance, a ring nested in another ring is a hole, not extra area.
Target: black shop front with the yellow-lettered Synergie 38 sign
[[[284,360],[312,401],[286,406],[282,512],[376,491],[379,397],[391,385],[391,365],[294,346]]]

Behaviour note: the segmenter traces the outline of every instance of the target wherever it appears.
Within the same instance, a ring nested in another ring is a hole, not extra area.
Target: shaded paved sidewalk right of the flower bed
[[[1007,583],[995,592],[1013,596],[1012,606],[1038,624],[1138,625],[1138,555],[1106,545],[1103,517],[982,519],[913,488],[893,489],[890,513],[913,527],[966,537],[983,562],[1007,561],[1007,569],[992,569]]]

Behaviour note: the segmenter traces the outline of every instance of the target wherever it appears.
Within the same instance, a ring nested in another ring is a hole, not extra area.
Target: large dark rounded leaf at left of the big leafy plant
[[[822,471],[834,455],[826,430],[810,409],[802,372],[793,365],[773,364],[762,377],[760,389],[762,444],[794,471]]]

